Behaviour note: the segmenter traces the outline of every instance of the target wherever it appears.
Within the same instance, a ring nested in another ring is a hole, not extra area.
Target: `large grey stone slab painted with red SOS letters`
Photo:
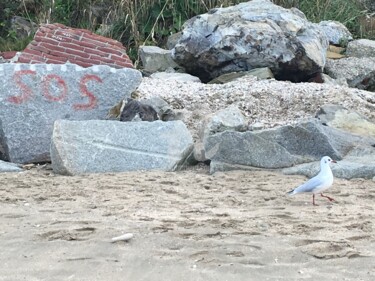
[[[16,163],[49,161],[55,120],[105,119],[142,79],[130,68],[73,64],[2,64],[0,77],[0,147]]]

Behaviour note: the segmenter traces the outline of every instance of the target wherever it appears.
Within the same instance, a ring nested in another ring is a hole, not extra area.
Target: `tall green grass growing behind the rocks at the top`
[[[19,3],[17,7],[15,2]],[[240,2],[246,0],[0,0],[0,9],[7,11],[6,14],[0,12],[0,35],[6,37],[7,22],[17,14],[37,23],[60,22],[117,39],[136,60],[140,45],[163,47],[168,36],[181,30],[187,19],[215,7]],[[297,7],[313,22],[337,20],[345,24],[355,37],[371,37],[361,25],[365,12],[357,0],[273,2],[286,8]]]

